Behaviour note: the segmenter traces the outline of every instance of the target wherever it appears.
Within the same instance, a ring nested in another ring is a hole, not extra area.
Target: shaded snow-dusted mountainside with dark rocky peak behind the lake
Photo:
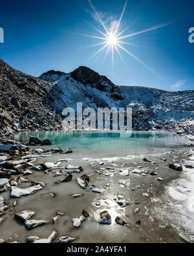
[[[47,101],[56,113],[63,108],[133,108],[135,130],[183,130],[193,134],[194,91],[169,92],[138,86],[115,86],[87,67],[69,74],[48,71],[40,77],[52,81]]]

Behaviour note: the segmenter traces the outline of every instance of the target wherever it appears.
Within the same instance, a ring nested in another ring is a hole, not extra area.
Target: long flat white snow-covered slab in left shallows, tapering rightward
[[[11,187],[11,197],[20,198],[21,196],[28,196],[34,194],[36,191],[43,189],[41,185],[28,187],[27,189],[21,189],[19,187]]]

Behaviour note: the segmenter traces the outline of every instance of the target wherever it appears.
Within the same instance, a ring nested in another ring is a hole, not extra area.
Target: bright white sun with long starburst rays
[[[135,23],[135,21],[133,21],[133,23],[131,23],[131,25],[126,27],[124,30],[120,31],[121,21],[122,21],[122,18],[124,16],[125,9],[127,7],[128,0],[125,1],[125,5],[124,5],[124,8],[122,10],[122,14],[120,16],[120,19],[116,22],[116,25],[115,25],[115,23],[112,23],[111,27],[109,29],[105,26],[105,23],[103,23],[102,18],[100,17],[100,15],[98,14],[98,12],[94,8],[94,6],[92,5],[91,0],[88,0],[88,2],[91,5],[92,10],[94,11],[96,19],[98,19],[98,21],[102,25],[103,29],[105,30],[103,32],[100,29],[94,27],[94,25],[89,23],[89,25],[91,25],[91,27],[94,28],[96,31],[98,31],[103,37],[102,36],[92,36],[92,35],[88,35],[88,34],[76,33],[76,34],[80,34],[81,36],[87,36],[89,38],[95,38],[95,39],[98,39],[98,40],[102,40],[102,42],[100,42],[100,43],[96,43],[95,45],[91,45],[91,46],[96,46],[96,45],[103,45],[103,46],[97,52],[95,52],[91,56],[91,58],[89,58],[89,60],[92,60],[92,58],[94,58],[94,56],[96,56],[98,53],[102,52],[105,48],[107,48],[107,51],[105,52],[105,56],[103,58],[103,62],[105,61],[105,58],[107,57],[107,54],[109,53],[109,51],[111,51],[112,66],[114,66],[114,50],[116,50],[116,52],[120,56],[122,62],[124,62],[124,59],[122,58],[122,54],[120,53],[120,50],[122,50],[122,51],[126,52],[127,54],[129,54],[129,56],[133,57],[137,62],[142,64],[144,67],[146,67],[146,69],[148,69],[152,73],[155,73],[155,71],[153,71],[153,69],[151,69],[148,65],[144,64],[144,62],[142,62],[142,60],[137,58],[133,53],[131,53],[129,50],[125,49],[125,47],[123,46],[123,45],[135,45],[134,43],[128,43],[128,42],[121,41],[121,40],[123,40],[125,38],[129,38],[131,36],[136,36],[138,34],[143,34],[145,32],[149,32],[151,30],[160,29],[160,28],[162,28],[166,25],[169,25],[170,23],[166,23],[166,24],[163,24],[163,25],[158,25],[158,26],[155,26],[155,27],[151,27],[149,29],[140,30],[138,32],[133,32],[132,34],[127,34],[127,35],[124,36],[124,32],[127,29],[129,29],[129,27],[131,27],[131,25],[133,25]]]

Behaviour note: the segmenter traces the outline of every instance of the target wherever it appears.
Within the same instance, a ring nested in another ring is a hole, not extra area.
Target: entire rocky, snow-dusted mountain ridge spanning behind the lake
[[[59,130],[65,107],[133,108],[133,130],[194,135],[194,91],[116,86],[88,67],[48,71],[35,78],[0,60],[0,134]]]

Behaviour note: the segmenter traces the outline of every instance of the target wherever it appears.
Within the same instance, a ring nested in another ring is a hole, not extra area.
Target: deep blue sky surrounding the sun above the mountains
[[[92,0],[92,4],[109,29],[111,22],[120,19],[125,0]],[[89,23],[105,32],[87,0],[6,0],[0,9],[0,27],[5,32],[0,58],[34,76],[49,69],[68,73],[87,65],[118,85],[194,89],[194,43],[188,41],[189,28],[194,27],[193,10],[194,0],[129,0],[119,30],[132,25],[124,36],[170,24],[124,38],[135,44],[125,44],[125,49],[144,65],[120,49],[124,64],[114,49],[112,69],[111,51],[103,62],[106,49],[88,61],[103,45],[89,46],[102,40],[76,34],[101,37]]]

